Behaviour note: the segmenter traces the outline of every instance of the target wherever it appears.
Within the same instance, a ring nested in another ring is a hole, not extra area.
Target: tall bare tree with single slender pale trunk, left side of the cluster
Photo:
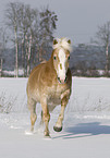
[[[15,46],[15,76],[19,76],[19,19],[20,19],[21,3],[10,2],[7,5],[5,17],[7,26],[9,26],[14,34],[12,41]]]

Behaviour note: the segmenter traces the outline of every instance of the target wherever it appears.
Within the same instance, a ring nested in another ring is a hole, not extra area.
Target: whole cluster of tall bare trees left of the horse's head
[[[0,51],[3,53],[8,42],[12,45],[15,76],[19,76],[19,54],[22,56],[24,76],[28,76],[32,63],[36,65],[36,62],[42,61],[42,54],[49,51],[58,16],[48,7],[39,11],[23,2],[8,3],[4,15],[5,27],[0,28]]]

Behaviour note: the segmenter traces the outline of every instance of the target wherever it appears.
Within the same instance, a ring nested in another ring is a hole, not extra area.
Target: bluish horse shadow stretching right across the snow
[[[78,138],[78,137],[87,137],[93,135],[100,135],[100,134],[110,134],[110,126],[101,125],[99,122],[93,123],[80,123],[75,126],[70,126],[64,129],[64,132],[68,134],[62,134],[59,136],[52,137],[54,138]]]

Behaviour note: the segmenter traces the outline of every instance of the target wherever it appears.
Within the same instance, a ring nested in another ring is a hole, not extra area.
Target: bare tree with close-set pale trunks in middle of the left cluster
[[[30,72],[32,48],[35,46],[38,34],[38,14],[37,9],[32,9],[28,4],[22,4],[19,22],[20,42],[22,46],[24,74],[26,69],[27,76]]]

